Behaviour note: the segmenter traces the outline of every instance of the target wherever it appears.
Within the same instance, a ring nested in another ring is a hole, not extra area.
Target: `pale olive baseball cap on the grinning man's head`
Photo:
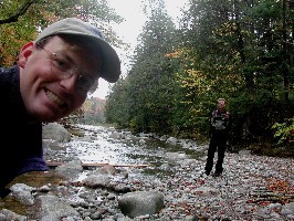
[[[115,83],[120,75],[120,61],[116,51],[107,43],[99,29],[76,18],[66,18],[45,28],[35,39],[35,42],[51,35],[69,34],[88,38],[96,42],[103,55],[103,67],[101,77],[107,82]]]

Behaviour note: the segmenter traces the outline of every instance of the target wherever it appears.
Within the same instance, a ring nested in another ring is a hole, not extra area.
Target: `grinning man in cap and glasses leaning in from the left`
[[[69,116],[97,87],[115,83],[120,62],[103,33],[67,18],[44,29],[20,50],[17,65],[0,67],[0,197],[29,171],[44,171],[42,123]]]

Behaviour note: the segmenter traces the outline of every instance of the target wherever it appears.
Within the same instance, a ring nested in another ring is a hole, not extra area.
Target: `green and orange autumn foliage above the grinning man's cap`
[[[24,6],[28,10],[20,14],[19,12]],[[91,21],[104,31],[106,39],[115,46],[124,46],[109,25],[111,22],[122,22],[123,18],[109,8],[106,0],[3,0],[0,14],[0,65],[3,66],[15,63],[20,49],[25,43],[33,41],[40,30],[53,21],[66,17],[77,17],[84,21]]]

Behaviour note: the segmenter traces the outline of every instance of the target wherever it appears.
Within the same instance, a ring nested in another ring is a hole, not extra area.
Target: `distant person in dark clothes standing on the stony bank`
[[[216,171],[212,176],[219,177],[223,171],[223,158],[229,139],[229,133],[232,126],[230,113],[225,109],[225,99],[218,99],[218,108],[211,114],[210,119],[210,144],[208,148],[207,164],[204,173],[210,175],[213,167],[214,152],[218,149],[218,161],[216,164]]]

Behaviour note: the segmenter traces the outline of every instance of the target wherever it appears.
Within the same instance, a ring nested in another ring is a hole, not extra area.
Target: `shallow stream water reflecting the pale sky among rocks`
[[[70,143],[54,144],[46,158],[64,161],[78,158],[83,162],[109,165],[150,165],[145,172],[164,172],[160,167],[182,158],[198,159],[203,155],[192,140],[158,137],[155,134],[133,135],[113,127],[77,125],[84,136],[74,136]],[[201,148],[200,148],[201,150]]]

